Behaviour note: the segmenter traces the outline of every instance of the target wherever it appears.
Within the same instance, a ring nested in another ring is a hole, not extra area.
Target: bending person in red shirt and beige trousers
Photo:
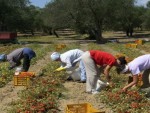
[[[86,69],[86,92],[96,94],[99,91],[96,89],[96,85],[99,79],[99,72],[103,72],[106,76],[107,83],[112,85],[111,76],[109,71],[112,66],[119,66],[121,64],[126,64],[125,57],[115,58],[110,53],[99,51],[99,50],[89,50],[86,51],[81,57],[85,69]],[[101,67],[98,69],[98,65]]]

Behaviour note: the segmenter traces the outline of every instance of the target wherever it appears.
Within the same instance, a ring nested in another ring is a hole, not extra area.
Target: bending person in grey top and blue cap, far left
[[[21,65],[21,60],[23,59],[23,70],[24,72],[29,70],[30,61],[33,57],[36,57],[35,52],[30,48],[19,48],[8,55],[0,55],[0,61],[8,61],[10,63],[9,69],[13,69]]]

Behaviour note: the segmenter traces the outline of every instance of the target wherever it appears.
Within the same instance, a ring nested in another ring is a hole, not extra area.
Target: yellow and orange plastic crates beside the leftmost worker
[[[14,86],[29,86],[30,79],[35,76],[34,72],[21,72],[19,75],[14,75]]]

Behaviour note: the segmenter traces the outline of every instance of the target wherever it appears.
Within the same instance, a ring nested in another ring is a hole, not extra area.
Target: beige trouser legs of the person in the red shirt
[[[82,55],[82,61],[86,69],[86,92],[92,92],[96,89],[96,83],[98,80],[97,66],[88,51]]]

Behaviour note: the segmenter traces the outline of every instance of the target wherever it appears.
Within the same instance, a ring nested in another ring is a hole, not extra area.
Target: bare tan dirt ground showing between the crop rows
[[[80,43],[82,41],[79,41]],[[89,41],[90,42],[90,41]],[[116,54],[117,52],[112,50],[111,48],[101,44],[101,47],[104,48],[106,51],[111,52],[112,54]],[[86,51],[87,50],[87,43],[81,43],[81,49]],[[30,71],[36,72],[38,74],[42,67],[48,64],[50,53],[37,61],[37,63],[31,66]],[[106,108],[106,106],[101,103],[99,99],[97,99],[98,95],[92,95],[85,93],[85,83],[77,83],[77,82],[68,82],[66,81],[64,87],[68,90],[64,92],[64,95],[67,98],[59,100],[60,103],[60,113],[65,113],[65,108],[68,104],[78,104],[78,103],[91,103],[91,105],[99,109],[101,111],[105,111],[106,113],[113,113],[112,110]],[[23,87],[14,87],[13,81],[8,83],[4,88],[0,89],[0,113],[6,113],[7,109],[9,109],[9,104],[18,99],[17,92],[24,89]]]

